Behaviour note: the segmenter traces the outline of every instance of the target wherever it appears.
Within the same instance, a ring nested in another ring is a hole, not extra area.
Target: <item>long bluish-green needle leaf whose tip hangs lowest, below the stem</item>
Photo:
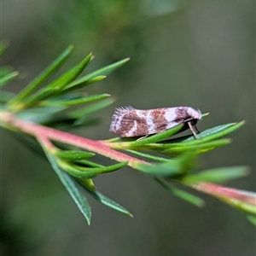
[[[91,217],[90,205],[86,200],[85,196],[76,187],[76,183],[73,181],[73,179],[69,177],[69,175],[66,172],[63,172],[61,168],[56,164],[55,159],[51,154],[47,152],[46,149],[44,149],[44,153],[46,154],[56,174],[61,179],[61,183],[65,186],[68,193],[73,198],[73,201],[75,201],[75,203],[79,207],[79,210],[80,212],[82,212],[82,214],[86,218],[87,223],[90,224],[90,217]]]

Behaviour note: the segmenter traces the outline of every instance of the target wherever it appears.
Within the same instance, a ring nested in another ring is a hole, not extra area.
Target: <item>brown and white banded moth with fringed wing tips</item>
[[[190,129],[198,138],[193,125],[201,120],[199,109],[190,107],[136,109],[116,108],[110,130],[119,137],[147,137],[184,124],[182,131]]]

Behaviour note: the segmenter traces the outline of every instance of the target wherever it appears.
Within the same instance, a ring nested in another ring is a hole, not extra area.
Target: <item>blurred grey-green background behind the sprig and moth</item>
[[[255,190],[254,2],[239,0],[3,0],[3,65],[20,72],[19,91],[68,44],[63,70],[85,55],[88,70],[127,56],[131,61],[88,88],[116,102],[102,123],[76,132],[104,139],[114,107],[191,106],[210,116],[199,130],[247,120],[233,143],[204,154],[199,169],[246,165],[250,177],[230,187]],[[87,70],[87,71],[88,71]],[[198,209],[130,168],[96,177],[103,194],[128,208],[128,218],[89,198],[92,223],[49,164],[1,131],[3,255],[255,255],[255,228],[207,195]]]

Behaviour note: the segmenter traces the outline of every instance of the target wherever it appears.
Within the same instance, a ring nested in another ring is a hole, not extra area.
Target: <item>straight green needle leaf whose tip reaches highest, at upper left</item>
[[[15,104],[15,102],[20,102],[27,96],[31,95],[32,91],[36,90],[38,86],[43,84],[43,82],[48,79],[52,73],[61,67],[69,55],[71,55],[72,51],[73,45],[69,45],[67,49],[65,49],[63,53],[49,65],[49,67],[46,67],[42,73],[40,73],[35,79],[27,84],[26,87],[21,90],[20,93],[11,102],[9,102],[10,105]]]

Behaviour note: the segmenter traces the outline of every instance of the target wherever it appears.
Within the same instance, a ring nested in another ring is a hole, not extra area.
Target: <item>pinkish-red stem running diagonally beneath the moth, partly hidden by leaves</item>
[[[43,125],[34,124],[32,122],[18,119],[12,113],[1,113],[1,121],[3,126],[15,128],[27,134],[36,137],[40,143],[43,143],[47,148],[54,147],[49,140],[67,143],[79,148],[84,148],[97,154],[102,154],[110,159],[123,162],[129,161],[128,165],[135,168],[137,163],[149,164],[146,161],[131,157],[130,155],[120,153],[112,148],[108,148],[100,141],[90,140],[88,138],[79,137],[65,131],[58,131]],[[239,189],[225,188],[212,183],[197,183],[192,185],[194,189],[204,193],[217,196],[219,198],[230,197],[240,201],[246,201],[251,205],[256,205],[255,195],[249,194],[247,191]]]

